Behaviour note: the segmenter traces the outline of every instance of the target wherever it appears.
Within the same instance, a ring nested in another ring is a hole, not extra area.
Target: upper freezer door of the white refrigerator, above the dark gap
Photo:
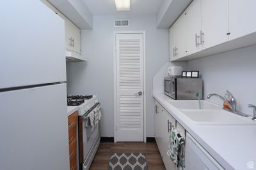
[[[0,89],[66,81],[64,20],[41,1],[0,4]]]

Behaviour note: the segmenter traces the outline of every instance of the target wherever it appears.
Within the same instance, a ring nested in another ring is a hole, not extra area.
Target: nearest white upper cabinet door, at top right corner
[[[245,36],[256,31],[256,1],[229,0],[229,40]]]

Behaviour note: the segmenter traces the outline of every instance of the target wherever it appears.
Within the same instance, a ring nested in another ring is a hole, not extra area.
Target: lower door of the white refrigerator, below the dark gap
[[[0,93],[0,169],[69,169],[66,87]]]

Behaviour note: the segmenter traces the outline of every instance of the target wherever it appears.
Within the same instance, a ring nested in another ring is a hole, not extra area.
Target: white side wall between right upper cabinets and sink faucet
[[[252,115],[248,104],[256,104],[256,46],[191,60],[188,67],[199,70],[204,80],[204,96],[217,93],[225,95],[230,90],[236,97],[238,109]],[[221,104],[221,99],[210,99]]]

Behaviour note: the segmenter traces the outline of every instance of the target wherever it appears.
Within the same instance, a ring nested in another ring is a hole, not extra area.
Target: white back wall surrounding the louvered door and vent
[[[115,19],[129,19],[130,27],[114,27]],[[156,29],[156,16],[94,17],[93,30],[81,32],[82,53],[88,63],[67,64],[68,94],[96,94],[102,103],[102,136],[114,136],[114,31],[145,31],[147,136],[154,136],[152,78],[169,58],[168,29]]]

